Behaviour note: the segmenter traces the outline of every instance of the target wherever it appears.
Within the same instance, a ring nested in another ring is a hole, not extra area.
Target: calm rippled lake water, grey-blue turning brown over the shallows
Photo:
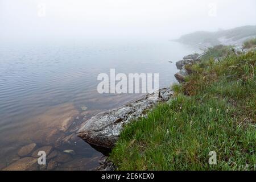
[[[0,169],[30,143],[75,151],[55,169],[93,169],[102,154],[76,137],[82,121],[139,97],[97,93],[98,74],[159,73],[162,88],[176,82],[175,62],[195,51],[168,40],[0,43]]]

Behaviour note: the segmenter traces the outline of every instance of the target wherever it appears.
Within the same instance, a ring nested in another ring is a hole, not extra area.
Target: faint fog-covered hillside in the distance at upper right
[[[256,26],[243,26],[216,32],[197,31],[181,36],[177,42],[196,46],[240,45],[245,40],[256,37]]]

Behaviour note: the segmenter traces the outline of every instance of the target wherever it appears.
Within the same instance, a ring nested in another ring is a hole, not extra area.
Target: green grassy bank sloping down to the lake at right
[[[255,63],[249,52],[192,65],[174,98],[125,126],[109,159],[118,170],[255,170]]]

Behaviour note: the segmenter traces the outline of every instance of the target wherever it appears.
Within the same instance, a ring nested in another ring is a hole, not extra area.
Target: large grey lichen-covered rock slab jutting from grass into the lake
[[[160,89],[158,92],[146,94],[136,101],[99,113],[85,121],[78,131],[79,137],[95,146],[112,148],[117,141],[123,125],[132,119],[142,117],[148,109],[159,102],[168,101],[172,97],[171,88]]]

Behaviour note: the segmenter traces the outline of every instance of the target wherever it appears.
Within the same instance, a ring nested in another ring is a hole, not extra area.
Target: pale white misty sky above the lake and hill
[[[0,0],[0,38],[174,39],[256,25],[255,7],[255,0]]]

